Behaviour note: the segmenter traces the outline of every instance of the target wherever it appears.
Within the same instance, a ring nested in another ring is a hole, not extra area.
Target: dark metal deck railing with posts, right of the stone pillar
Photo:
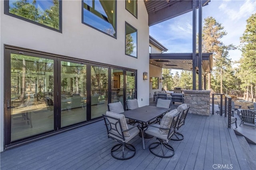
[[[214,96],[220,96],[220,116],[222,116],[224,111],[224,116],[227,117],[228,115],[228,128],[231,128],[231,100],[232,98],[226,94],[218,94],[212,93],[212,115],[214,115]],[[223,108],[223,96],[225,97],[225,103]]]

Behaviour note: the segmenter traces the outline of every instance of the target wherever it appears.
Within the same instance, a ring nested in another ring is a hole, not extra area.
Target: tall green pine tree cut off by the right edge
[[[240,74],[242,86],[246,90],[246,100],[248,101],[249,87],[251,87],[251,98],[253,98],[253,86],[256,86],[256,14],[252,14],[246,22],[246,29],[240,38],[240,50],[242,51]]]

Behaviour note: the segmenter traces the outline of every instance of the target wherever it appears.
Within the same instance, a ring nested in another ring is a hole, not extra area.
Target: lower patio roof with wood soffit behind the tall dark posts
[[[198,56],[198,53],[196,53]],[[197,60],[198,61],[198,60]],[[166,68],[189,70],[193,68],[192,53],[151,53],[149,54],[151,65]],[[195,65],[198,67],[198,65]],[[212,71],[212,53],[202,53],[202,73]]]

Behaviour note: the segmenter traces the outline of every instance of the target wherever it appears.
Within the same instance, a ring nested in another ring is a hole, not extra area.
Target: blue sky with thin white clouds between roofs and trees
[[[225,44],[240,45],[240,37],[246,28],[246,20],[256,13],[255,0],[211,0],[202,9],[203,20],[212,16],[222,24],[228,33],[221,41]],[[198,13],[198,11],[197,11]],[[192,52],[192,12],[150,26],[150,36],[169,50],[167,53]],[[239,49],[229,51],[232,61],[241,57]]]

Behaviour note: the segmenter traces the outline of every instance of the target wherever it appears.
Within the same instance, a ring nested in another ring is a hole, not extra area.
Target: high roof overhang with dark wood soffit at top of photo
[[[198,8],[198,0],[194,1]],[[210,0],[202,0],[202,6]],[[148,12],[148,26],[158,24],[193,10],[193,0],[144,0]]]

